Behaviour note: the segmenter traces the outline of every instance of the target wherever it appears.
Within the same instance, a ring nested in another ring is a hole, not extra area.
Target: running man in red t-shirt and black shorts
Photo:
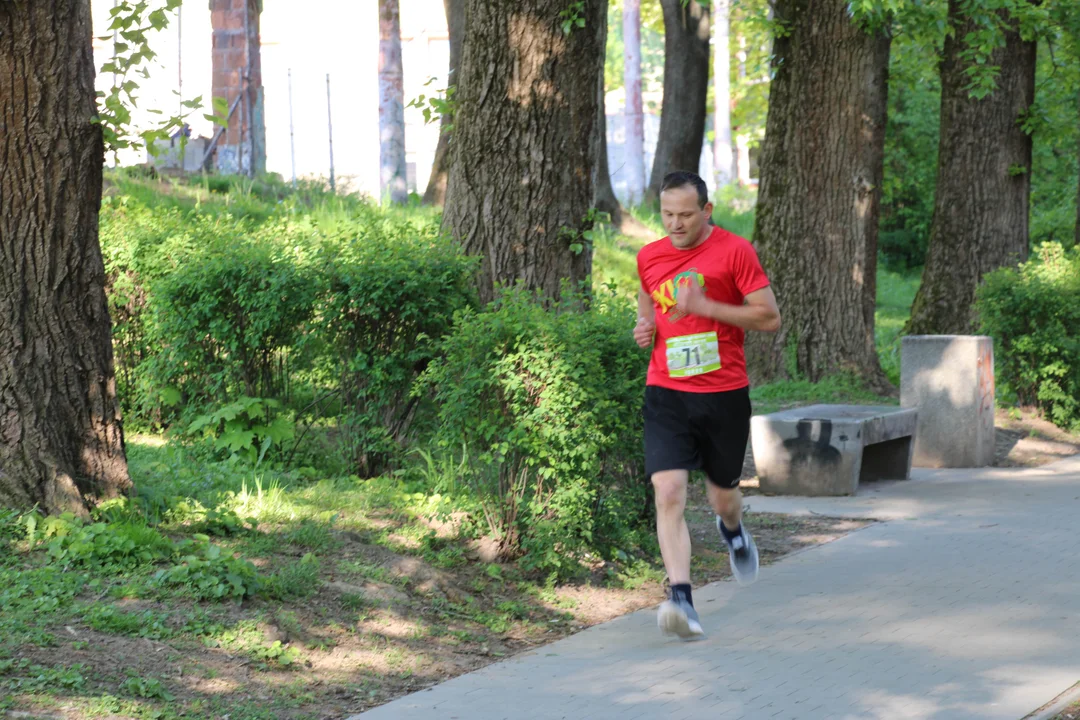
[[[708,503],[735,581],[757,580],[757,546],[742,526],[739,491],[751,418],[743,341],[746,330],[774,332],[780,311],[754,247],[710,225],[713,205],[698,175],[667,175],[660,212],[669,235],[637,254],[634,339],[652,349],[645,472],[656,489],[657,535],[671,584],[657,622],[665,634],[689,639],[704,634],[690,595],[690,471],[708,477]]]

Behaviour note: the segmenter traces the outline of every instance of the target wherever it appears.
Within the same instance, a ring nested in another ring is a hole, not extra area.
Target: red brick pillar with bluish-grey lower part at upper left
[[[254,175],[267,168],[262,113],[259,13],[262,0],[210,0],[214,28],[214,97],[231,110],[215,149],[221,173]]]

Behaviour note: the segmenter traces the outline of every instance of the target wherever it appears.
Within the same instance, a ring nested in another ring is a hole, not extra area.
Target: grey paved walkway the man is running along
[[[1020,720],[1080,680],[1080,456],[913,475],[748,498],[888,521],[696,589],[704,641],[645,610],[356,718]]]

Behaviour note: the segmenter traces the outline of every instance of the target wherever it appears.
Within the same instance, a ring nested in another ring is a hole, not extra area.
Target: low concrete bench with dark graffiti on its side
[[[850,495],[865,480],[907,479],[918,411],[811,405],[751,420],[762,492]]]

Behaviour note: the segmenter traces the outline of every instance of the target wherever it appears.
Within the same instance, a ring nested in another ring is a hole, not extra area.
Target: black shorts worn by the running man
[[[750,438],[750,388],[720,393],[645,389],[645,474],[701,470],[739,487]]]

